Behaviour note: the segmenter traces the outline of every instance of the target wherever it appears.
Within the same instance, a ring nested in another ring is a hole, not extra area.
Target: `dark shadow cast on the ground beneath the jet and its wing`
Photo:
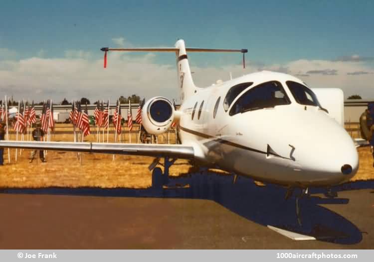
[[[289,231],[314,236],[318,240],[337,244],[357,244],[362,233],[350,221],[319,204],[348,204],[348,199],[326,199],[319,197],[300,200],[299,225],[296,216],[295,192],[285,200],[286,189],[268,184],[258,187],[252,179],[210,172],[198,172],[184,177],[172,178],[168,187],[163,187],[164,176],[154,176],[153,186],[148,189],[101,189],[101,188],[41,188],[3,189],[8,194],[53,194],[108,197],[156,197],[212,200],[230,211],[263,226],[274,226]],[[186,185],[188,185],[186,187]],[[374,181],[348,183],[334,191],[374,188]],[[311,189],[311,193],[324,193],[325,189]]]

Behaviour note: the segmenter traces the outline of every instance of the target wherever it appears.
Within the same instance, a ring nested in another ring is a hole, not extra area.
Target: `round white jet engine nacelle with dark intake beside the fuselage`
[[[142,122],[148,133],[160,135],[169,130],[174,120],[172,102],[165,97],[153,97],[142,108]]]

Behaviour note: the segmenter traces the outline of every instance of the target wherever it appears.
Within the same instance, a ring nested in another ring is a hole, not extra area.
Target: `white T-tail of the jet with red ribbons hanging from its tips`
[[[190,48],[186,47],[185,41],[180,39],[175,47],[140,47],[140,48],[101,48],[104,51],[104,68],[107,66],[108,51],[128,51],[128,52],[175,52],[177,57],[178,85],[181,94],[181,102],[190,97],[196,90],[193,83],[191,70],[189,68],[187,52],[241,52],[243,53],[243,66],[245,66],[244,54],[247,49],[211,49],[211,48]]]

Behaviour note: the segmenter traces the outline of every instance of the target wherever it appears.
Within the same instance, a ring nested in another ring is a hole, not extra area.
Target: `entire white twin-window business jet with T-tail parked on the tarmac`
[[[105,59],[108,51],[176,53],[180,109],[167,98],[154,97],[143,105],[142,120],[147,132],[155,135],[178,122],[182,144],[0,141],[0,147],[152,156],[156,159],[151,169],[165,158],[166,175],[176,159],[189,159],[290,190],[330,187],[348,181],[358,171],[358,153],[342,119],[325,109],[336,102],[339,89],[324,89],[328,99],[321,104],[300,79],[270,71],[217,81],[205,88],[195,86],[187,51],[241,52],[244,59],[246,49],[186,48],[184,40],[178,40],[171,48],[101,50]]]

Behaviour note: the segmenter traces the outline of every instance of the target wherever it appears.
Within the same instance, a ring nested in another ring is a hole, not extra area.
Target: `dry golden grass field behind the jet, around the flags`
[[[134,128],[137,130],[137,127]],[[71,130],[71,125],[59,124],[56,131]],[[84,140],[96,142],[96,132]],[[14,139],[12,134],[10,139]],[[106,136],[105,136],[106,138]],[[52,141],[72,141],[72,134],[52,135]],[[137,132],[132,133],[132,141],[137,139]],[[122,141],[129,141],[126,133]],[[113,141],[113,134],[109,141]],[[158,137],[159,143],[168,143],[168,135]],[[170,142],[175,143],[174,132],[170,133]],[[30,150],[18,149],[15,163],[15,149],[10,150],[11,163],[7,161],[7,149],[4,150],[4,166],[0,166],[0,188],[40,188],[40,187],[101,187],[101,188],[147,188],[151,186],[152,175],[148,170],[152,157],[116,156],[84,153],[82,164],[78,154],[73,152],[48,151],[47,163],[35,159],[29,163]],[[370,180],[374,178],[373,158],[370,148],[360,148],[360,170],[353,178],[356,180]],[[186,160],[177,160],[170,168],[172,176],[180,176],[193,171],[194,168]],[[219,171],[217,171],[219,172]],[[222,174],[227,174],[221,172]]]

